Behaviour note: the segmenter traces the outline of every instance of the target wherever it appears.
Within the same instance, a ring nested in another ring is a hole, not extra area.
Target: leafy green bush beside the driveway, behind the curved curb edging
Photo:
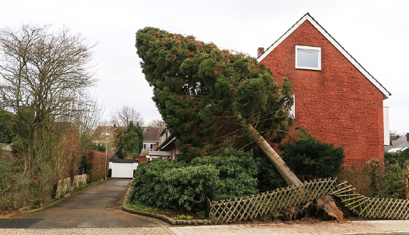
[[[208,165],[193,167],[171,160],[142,162],[129,201],[144,206],[203,210],[206,197],[218,188],[217,174],[217,169]]]

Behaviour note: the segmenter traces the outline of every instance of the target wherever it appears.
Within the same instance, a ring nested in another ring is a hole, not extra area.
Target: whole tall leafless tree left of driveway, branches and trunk
[[[68,29],[32,24],[0,29],[0,105],[16,114],[21,156],[29,157],[33,172],[49,173],[43,185],[54,183],[60,143],[72,120],[95,105],[87,93],[95,82],[92,47]]]

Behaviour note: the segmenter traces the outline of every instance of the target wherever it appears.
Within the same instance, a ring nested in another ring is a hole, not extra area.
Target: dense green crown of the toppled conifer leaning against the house
[[[277,142],[293,124],[290,82],[274,82],[252,57],[152,27],[137,32],[136,47],[153,100],[187,162],[246,145],[238,114]]]

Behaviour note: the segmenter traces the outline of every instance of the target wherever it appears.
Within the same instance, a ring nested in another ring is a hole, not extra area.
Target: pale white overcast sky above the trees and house
[[[134,47],[138,29],[155,26],[256,56],[257,47],[269,47],[310,13],[392,93],[384,103],[390,129],[409,132],[409,1],[2,0],[0,6],[0,27],[53,24],[97,43],[95,94],[104,118],[128,105],[146,121],[160,114]]]

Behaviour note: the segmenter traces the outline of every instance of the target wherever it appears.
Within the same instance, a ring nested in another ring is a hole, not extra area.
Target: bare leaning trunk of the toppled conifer
[[[246,123],[241,114],[236,113],[236,118],[240,121],[242,126],[245,126],[252,136],[252,139],[263,150],[265,156],[272,162],[279,174],[286,181],[287,185],[299,185],[302,182],[291,171],[290,167],[286,165],[286,162],[278,155],[278,153],[272,149],[271,145],[260,135],[260,133],[249,123]]]

